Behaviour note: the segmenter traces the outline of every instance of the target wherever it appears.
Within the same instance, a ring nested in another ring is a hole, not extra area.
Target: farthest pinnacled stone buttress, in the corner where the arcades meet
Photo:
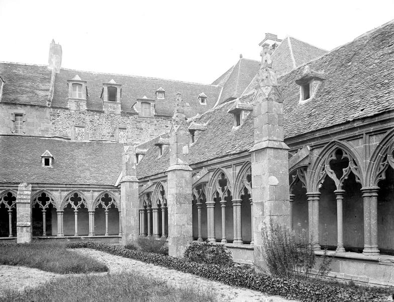
[[[139,236],[139,198],[136,177],[135,148],[128,139],[123,147],[121,184],[122,244],[126,245]]]

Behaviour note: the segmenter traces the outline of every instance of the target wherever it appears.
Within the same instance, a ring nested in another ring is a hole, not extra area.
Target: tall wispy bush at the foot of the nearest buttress
[[[303,231],[295,234],[286,226],[274,223],[261,228],[263,238],[263,254],[269,272],[285,278],[308,278],[316,265],[316,256],[308,240],[308,234]],[[327,256],[327,249],[317,268],[317,276],[326,276],[330,270],[332,257]]]

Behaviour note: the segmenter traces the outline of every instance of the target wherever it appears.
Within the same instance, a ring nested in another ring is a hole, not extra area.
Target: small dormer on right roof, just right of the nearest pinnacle
[[[300,86],[300,104],[313,99],[324,80],[326,78],[322,71],[313,70],[306,65],[301,78],[295,80],[295,83]]]

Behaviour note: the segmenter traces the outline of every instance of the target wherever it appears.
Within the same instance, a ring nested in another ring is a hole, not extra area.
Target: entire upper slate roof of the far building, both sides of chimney
[[[0,62],[0,74],[6,82],[3,102],[46,106],[51,82],[51,70],[46,65]],[[185,108],[186,116],[194,116],[212,108],[218,101],[221,91],[221,88],[215,85],[61,68],[55,77],[52,107],[67,108],[67,80],[73,79],[75,75],[86,81],[86,108],[99,111],[103,111],[100,99],[103,83],[109,83],[112,79],[122,85],[121,110],[128,113],[136,113],[133,105],[137,99],[147,96],[148,99],[155,100],[157,115],[171,116],[176,93],[180,92],[182,99],[190,105]],[[160,87],[165,90],[165,99],[157,100],[155,93]],[[207,105],[199,103],[198,96],[201,93],[207,95]]]

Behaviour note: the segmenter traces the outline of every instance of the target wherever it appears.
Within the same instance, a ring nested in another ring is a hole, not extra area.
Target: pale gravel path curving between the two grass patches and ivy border
[[[75,249],[77,253],[91,256],[104,262],[110,269],[110,273],[135,271],[142,275],[167,280],[173,286],[184,286],[193,284],[196,287],[212,288],[218,294],[220,301],[235,302],[290,302],[279,296],[268,296],[259,291],[229,286],[220,282],[207,280],[192,274],[182,273],[176,270],[163,268],[141,261],[123,258],[91,249]],[[105,274],[105,273],[102,273]],[[50,273],[35,268],[23,266],[0,266],[0,294],[7,288],[23,290],[26,286],[37,286],[52,278],[65,275]]]

